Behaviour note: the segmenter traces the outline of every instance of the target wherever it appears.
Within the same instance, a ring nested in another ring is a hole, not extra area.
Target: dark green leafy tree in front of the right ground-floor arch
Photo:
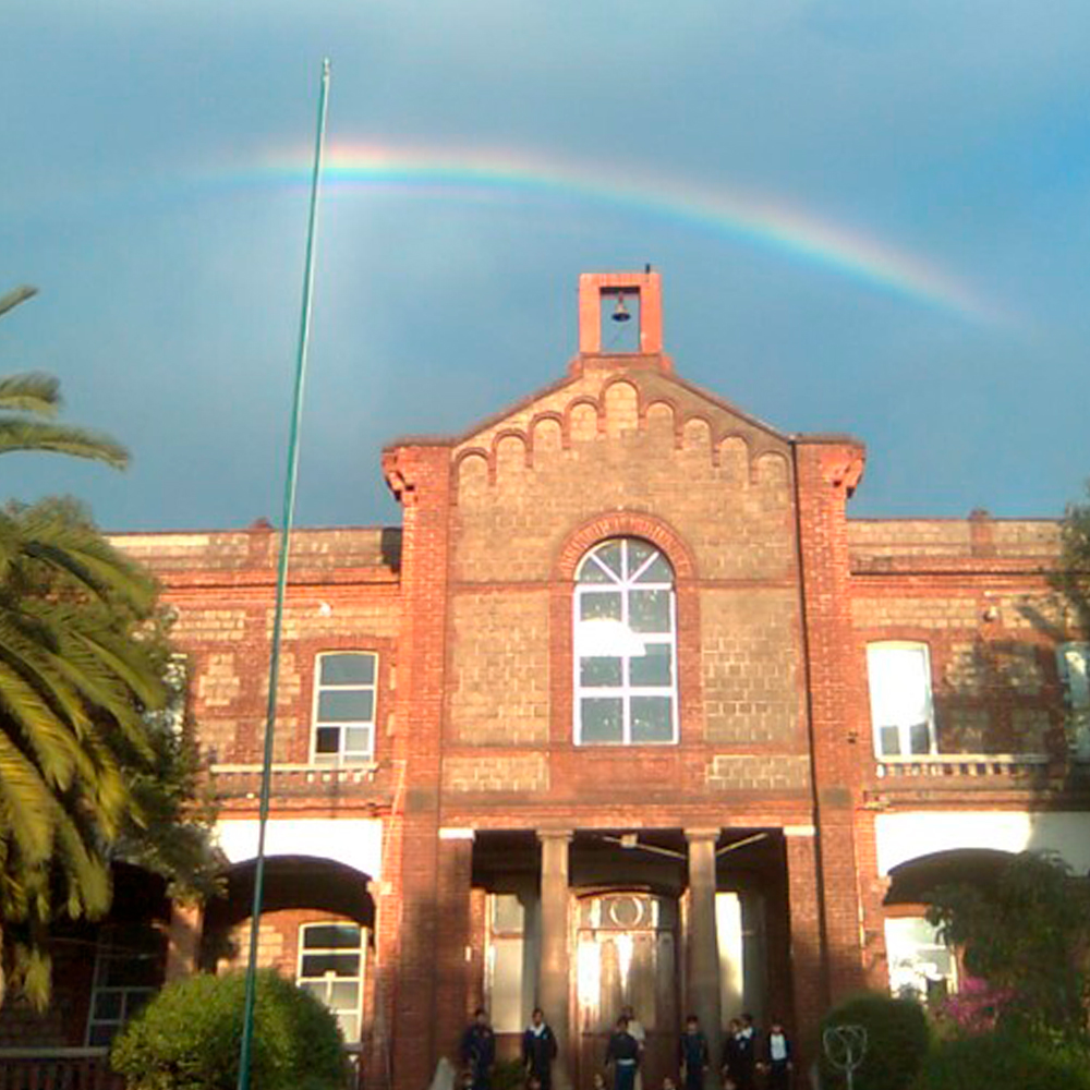
[[[1090,888],[1062,860],[1022,852],[994,883],[942,886],[928,919],[991,986],[1001,1028],[1085,1039]]]

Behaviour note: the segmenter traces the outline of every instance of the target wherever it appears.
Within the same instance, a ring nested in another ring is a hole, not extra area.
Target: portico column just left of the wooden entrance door
[[[557,1057],[553,1085],[569,1090],[568,1071],[568,847],[569,829],[540,832],[542,845],[542,959],[538,1004],[556,1033]]]

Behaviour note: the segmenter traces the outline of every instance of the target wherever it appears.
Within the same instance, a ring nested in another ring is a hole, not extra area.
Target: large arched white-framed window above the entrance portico
[[[576,741],[676,742],[674,571],[654,546],[615,538],[576,572]]]

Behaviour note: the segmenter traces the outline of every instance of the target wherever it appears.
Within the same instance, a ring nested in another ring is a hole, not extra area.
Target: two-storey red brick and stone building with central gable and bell
[[[564,378],[387,448],[400,528],[296,533],[259,952],[372,1081],[425,1086],[481,1003],[507,1050],[545,1008],[561,1090],[622,1003],[653,1085],[689,1010],[806,1042],[864,985],[956,986],[929,883],[1024,848],[1087,872],[1057,525],[851,520],[863,462],[680,378],[657,274],[589,275]],[[4,1045],[97,1045],[246,949],[277,536],[119,543],[177,610],[228,891],[195,911],[119,869]]]

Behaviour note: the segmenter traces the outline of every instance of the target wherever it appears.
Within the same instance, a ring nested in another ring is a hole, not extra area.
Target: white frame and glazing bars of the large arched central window
[[[619,577],[597,559],[597,555],[608,546],[621,546],[622,567],[626,576]],[[629,548],[632,544],[650,549],[650,555],[634,569],[629,564]],[[655,562],[662,561],[669,569],[668,581],[638,582],[639,578]],[[607,578],[603,582],[588,582],[584,573],[594,566]],[[572,682],[573,719],[577,746],[676,746],[678,742],[678,662],[677,662],[677,592],[674,568],[662,549],[639,537],[610,537],[600,542],[580,560],[576,569],[574,593],[572,595]],[[666,632],[634,632],[629,627],[632,594],[638,591],[666,591],[668,600],[668,630]],[[585,598],[605,593],[619,593],[621,616],[616,620],[581,620]],[[630,678],[630,664],[642,658],[649,645],[665,646],[669,651],[670,680],[668,685],[634,685]],[[595,651],[597,654],[590,654]],[[582,661],[584,658],[619,658],[621,683],[619,686],[584,686],[582,683]],[[632,700],[640,697],[668,698],[670,702],[670,737],[661,739],[632,739]],[[621,701],[621,737],[611,741],[584,739],[583,700],[619,699]]]

